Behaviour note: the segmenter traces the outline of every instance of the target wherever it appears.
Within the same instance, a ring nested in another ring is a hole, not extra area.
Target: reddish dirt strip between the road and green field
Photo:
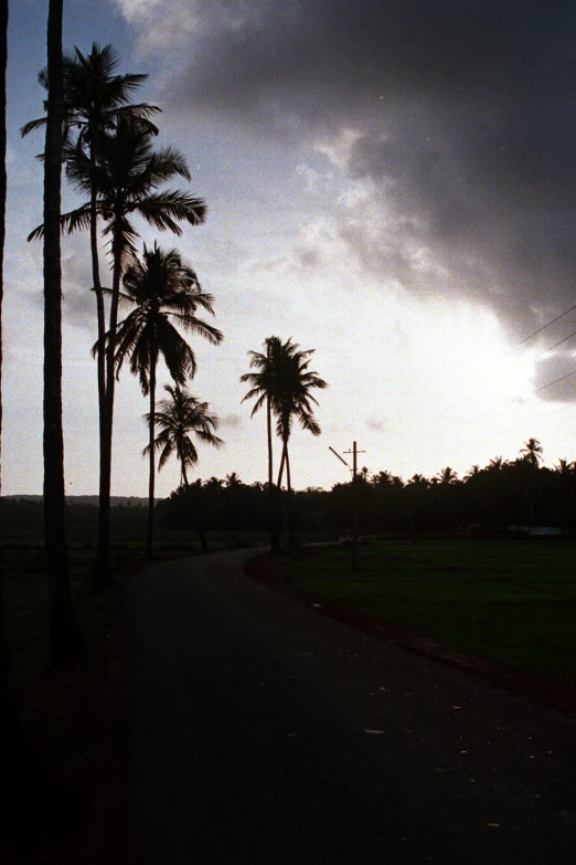
[[[245,563],[244,569],[252,579],[290,597],[298,603],[313,606],[319,613],[351,627],[461,669],[463,673],[479,676],[493,685],[529,697],[538,705],[566,715],[576,715],[576,685],[569,682],[489,661],[451,643],[433,640],[413,629],[297,590],[281,578],[276,562],[269,556],[250,559]]]

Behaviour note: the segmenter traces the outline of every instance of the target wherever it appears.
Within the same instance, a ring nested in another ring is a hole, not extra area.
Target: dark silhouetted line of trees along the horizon
[[[331,489],[292,490],[290,520],[280,504],[279,528],[287,534],[323,531],[342,536],[352,531],[354,496],[359,531],[377,534],[508,532],[555,526],[576,531],[576,462],[542,464],[542,445],[530,439],[515,460],[493,457],[473,465],[459,478],[446,466],[433,477],[414,474],[403,479],[391,472],[363,467],[352,481]],[[268,528],[269,483],[244,484],[233,472],[225,478],[198,478],[180,486],[157,505],[158,523],[166,529],[256,530]]]

